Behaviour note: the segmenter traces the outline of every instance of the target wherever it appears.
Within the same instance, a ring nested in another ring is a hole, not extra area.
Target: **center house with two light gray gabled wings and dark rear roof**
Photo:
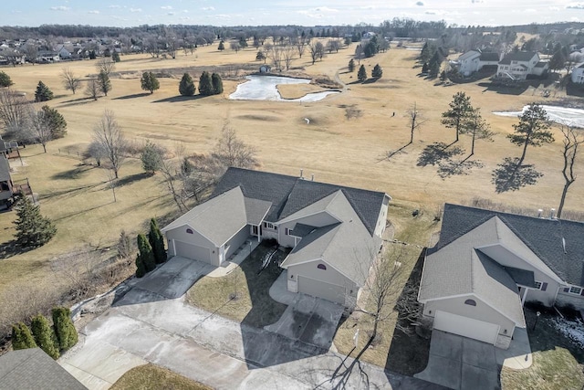
[[[381,248],[390,196],[229,168],[208,201],[162,228],[169,256],[221,266],[248,239],[292,248],[287,289],[354,305]]]

